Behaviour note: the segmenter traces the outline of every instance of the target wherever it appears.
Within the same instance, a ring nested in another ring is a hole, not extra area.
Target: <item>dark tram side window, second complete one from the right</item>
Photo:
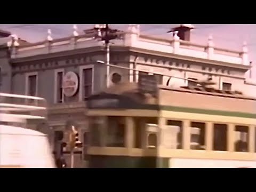
[[[226,151],[227,150],[227,125],[214,124],[213,125],[213,150]]]

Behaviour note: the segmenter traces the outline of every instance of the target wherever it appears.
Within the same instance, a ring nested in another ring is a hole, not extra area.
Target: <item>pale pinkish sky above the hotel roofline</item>
[[[206,44],[209,35],[213,36],[214,45],[221,48],[242,51],[243,42],[247,42],[249,59],[252,61],[252,78],[256,80],[256,25],[255,24],[192,24],[191,42]],[[92,28],[94,24],[77,24],[82,34],[84,29]],[[110,24],[111,28],[125,30],[127,24]],[[141,33],[165,36],[166,31],[178,24],[140,24]],[[72,34],[73,24],[0,24],[0,29],[8,30],[12,34],[28,42],[46,39],[47,29],[51,29],[53,38],[65,37]]]

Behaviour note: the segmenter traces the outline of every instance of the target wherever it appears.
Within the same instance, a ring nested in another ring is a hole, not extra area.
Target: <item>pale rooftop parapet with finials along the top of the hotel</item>
[[[244,43],[241,51],[234,51],[214,46],[212,36],[209,37],[207,45],[201,45],[182,41],[177,34],[177,31],[174,31],[170,39],[144,35],[140,34],[138,25],[130,24],[129,28],[119,35],[120,38],[112,41],[114,44],[111,44],[111,46],[130,46],[237,65],[249,65],[246,43]],[[15,40],[13,41],[15,43]],[[77,50],[93,46],[103,46],[103,41],[97,39],[92,34],[78,35],[73,33],[72,36],[59,39],[52,39],[51,34],[48,34],[46,41],[11,46],[11,58],[25,58],[39,54]]]

